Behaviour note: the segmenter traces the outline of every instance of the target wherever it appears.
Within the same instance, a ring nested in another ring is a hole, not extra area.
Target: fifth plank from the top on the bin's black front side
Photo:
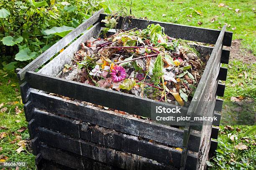
[[[54,161],[57,164],[77,169],[77,170],[121,170],[120,168],[111,167],[110,165],[96,162],[95,160],[76,155],[44,143],[39,143],[42,158]]]

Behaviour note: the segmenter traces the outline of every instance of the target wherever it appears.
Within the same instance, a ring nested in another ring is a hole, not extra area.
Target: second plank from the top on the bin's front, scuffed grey
[[[105,128],[140,136],[167,145],[182,146],[183,130],[181,129],[109,110],[101,110],[98,107],[85,107],[80,102],[49,96],[40,92],[31,92],[30,95],[33,99],[34,107],[38,108],[38,110],[47,110],[54,114],[65,115],[76,120],[90,122]],[[192,133],[191,139],[192,143],[189,144],[188,148],[197,152],[200,145],[200,135]]]

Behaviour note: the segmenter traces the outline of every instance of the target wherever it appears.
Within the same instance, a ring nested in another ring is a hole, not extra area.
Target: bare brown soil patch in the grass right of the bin
[[[256,62],[256,56],[251,51],[241,48],[242,39],[232,41],[230,50],[230,60],[241,60],[244,63],[251,64]]]

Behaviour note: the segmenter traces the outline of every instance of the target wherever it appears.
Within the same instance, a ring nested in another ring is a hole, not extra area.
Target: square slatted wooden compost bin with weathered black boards
[[[184,129],[102,110],[95,105],[122,110],[130,114],[151,117],[151,104],[176,107],[164,102],[103,89],[80,82],[56,77],[64,64],[72,60],[79,43],[97,37],[104,26],[103,10],[79,25],[76,29],[46,50],[23,69],[17,69],[20,90],[32,139],[33,154],[38,169],[85,170],[176,170],[204,169],[209,154],[217,147],[218,126],[226,79],[232,32],[190,27],[133,18],[120,18],[117,29],[144,29],[159,23],[165,33],[174,38],[214,44],[214,47],[197,45],[197,49],[210,54],[193,101],[216,102],[209,107],[200,102],[190,104],[184,115],[193,112],[205,116],[218,116],[213,125],[191,126]],[[86,33],[80,35],[90,25]],[[72,42],[76,37],[77,40]],[[44,65],[62,48],[71,45]],[[38,72],[36,69],[44,65]],[[49,95],[59,94],[75,100]],[[152,142],[153,141],[153,142]],[[175,148],[182,148],[182,151]]]

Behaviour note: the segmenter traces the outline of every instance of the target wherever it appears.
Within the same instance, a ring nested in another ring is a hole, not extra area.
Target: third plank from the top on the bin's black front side
[[[136,136],[126,135],[97,125],[89,125],[82,121],[74,121],[73,119],[49,114],[41,110],[36,110],[33,120],[34,119],[36,119],[36,126],[97,143],[102,147],[133,153],[167,165],[180,165],[181,152],[179,150],[151,143],[143,139],[138,140]],[[33,123],[35,122],[33,121]],[[37,134],[37,131],[36,128],[31,128],[32,126],[35,127],[35,125],[29,123],[29,130],[31,131],[32,129],[34,132],[32,135],[33,138],[33,136]],[[187,167],[196,169],[196,165],[197,156],[192,153],[189,154]]]

